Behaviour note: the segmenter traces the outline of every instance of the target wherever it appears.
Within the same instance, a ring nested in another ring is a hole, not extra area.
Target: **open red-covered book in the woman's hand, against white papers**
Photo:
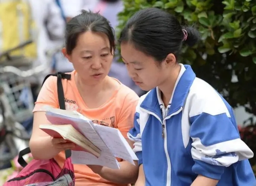
[[[40,125],[39,128],[53,138],[64,138],[65,140],[71,141],[78,145],[78,147],[73,150],[86,151],[92,153],[97,158],[101,155],[101,150],[70,124]]]

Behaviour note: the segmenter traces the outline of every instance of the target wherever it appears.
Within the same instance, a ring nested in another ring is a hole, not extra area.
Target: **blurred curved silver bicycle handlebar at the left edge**
[[[32,68],[30,70],[19,70],[19,68],[13,67],[13,66],[5,66],[0,68],[0,74],[2,73],[13,73],[16,74],[19,77],[30,77],[33,76],[35,74],[41,73],[42,71],[44,71],[45,65],[39,65],[35,68]]]

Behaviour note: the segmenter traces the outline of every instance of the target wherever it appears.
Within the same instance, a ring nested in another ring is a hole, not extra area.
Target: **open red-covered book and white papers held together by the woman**
[[[100,165],[120,169],[116,158],[135,165],[138,160],[121,132],[92,120],[72,110],[47,107],[46,118],[50,125],[39,128],[52,137],[61,137],[78,145],[71,151],[73,164]]]

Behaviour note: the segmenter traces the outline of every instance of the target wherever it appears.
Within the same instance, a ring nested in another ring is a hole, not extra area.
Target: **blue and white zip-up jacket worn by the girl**
[[[165,115],[155,88],[142,96],[128,133],[143,164],[146,186],[190,186],[198,174],[217,186],[255,186],[231,106],[212,86],[182,65]]]

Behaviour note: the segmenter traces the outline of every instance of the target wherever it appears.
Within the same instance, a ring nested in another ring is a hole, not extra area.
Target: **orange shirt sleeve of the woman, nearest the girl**
[[[133,127],[133,118],[138,100],[139,96],[135,92],[130,91],[123,101],[117,121],[117,128],[124,138],[127,138],[127,132]]]

